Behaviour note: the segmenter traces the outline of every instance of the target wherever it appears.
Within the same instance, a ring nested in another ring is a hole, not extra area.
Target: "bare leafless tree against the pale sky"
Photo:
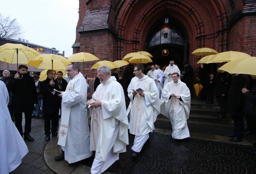
[[[8,38],[17,38],[23,36],[21,26],[16,19],[10,19],[10,16],[3,16],[0,13],[0,40]]]

